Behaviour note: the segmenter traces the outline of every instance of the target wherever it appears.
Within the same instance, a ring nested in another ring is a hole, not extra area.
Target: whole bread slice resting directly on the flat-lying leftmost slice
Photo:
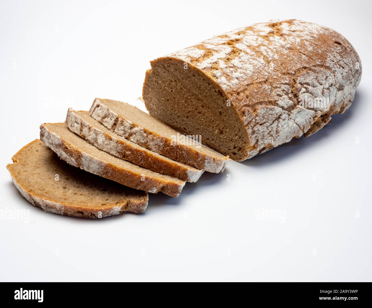
[[[97,149],[70,131],[65,123],[42,124],[40,140],[70,165],[131,188],[150,193],[161,191],[177,197],[185,185],[183,180],[151,171]]]

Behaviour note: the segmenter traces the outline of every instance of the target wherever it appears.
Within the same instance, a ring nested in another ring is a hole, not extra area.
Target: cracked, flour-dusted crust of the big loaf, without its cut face
[[[244,160],[310,136],[350,107],[362,65],[336,31],[299,20],[272,20],[214,36],[154,61],[184,61],[231,101],[249,144]],[[309,99],[329,104],[304,107]]]

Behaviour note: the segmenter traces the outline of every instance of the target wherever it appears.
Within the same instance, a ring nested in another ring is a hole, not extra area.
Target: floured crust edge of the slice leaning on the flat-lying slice
[[[65,125],[64,123],[57,124]],[[66,129],[68,128],[66,127]],[[155,176],[151,177],[145,174],[139,174],[130,169],[125,169],[121,166],[114,165],[113,163],[100,160],[99,158],[90,155],[90,153],[80,150],[78,147],[69,143],[68,140],[63,139],[58,134],[49,130],[48,123],[40,126],[40,140],[44,142],[45,145],[50,147],[55,153],[57,153],[61,159],[70,163],[70,165],[79,167],[85,171],[109,180],[113,180],[131,188],[148,191],[149,193],[158,193],[161,191],[169,196],[177,197],[185,185],[185,181],[177,178],[171,178],[167,175],[159,174],[162,177],[170,178],[170,181],[156,178]],[[84,142],[86,141],[84,140]],[[108,155],[107,153],[105,154]],[[113,156],[111,157],[114,158]]]

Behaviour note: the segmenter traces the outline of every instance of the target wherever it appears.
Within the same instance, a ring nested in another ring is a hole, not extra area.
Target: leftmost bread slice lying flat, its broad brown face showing
[[[46,212],[102,218],[142,213],[148,194],[89,174],[62,161],[39,139],[20,149],[6,168],[23,197]]]

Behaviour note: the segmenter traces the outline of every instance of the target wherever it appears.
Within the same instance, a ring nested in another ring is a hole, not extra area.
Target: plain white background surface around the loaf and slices
[[[371,281],[368,2],[1,0],[0,209],[28,209],[29,220],[0,220],[0,280]],[[205,173],[177,198],[151,194],[142,215],[45,213],[12,184],[5,166],[41,123],[95,97],[145,109],[150,60],[290,18],[335,29],[362,60],[352,106],[315,135]],[[265,210],[283,219],[259,219]]]

